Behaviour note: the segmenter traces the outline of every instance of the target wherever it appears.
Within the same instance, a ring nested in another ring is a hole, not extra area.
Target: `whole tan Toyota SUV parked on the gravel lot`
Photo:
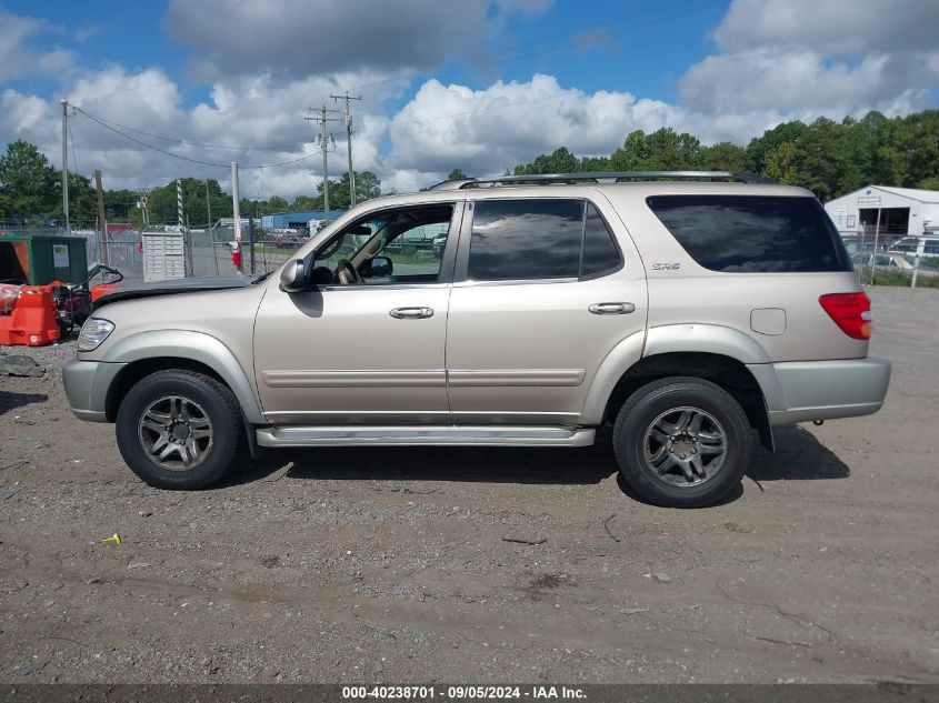
[[[370,200],[277,275],[99,300],[69,402],[114,422],[160,488],[260,448],[583,446],[612,423],[637,493],[712,503],[751,431],[771,449],[773,425],[873,413],[890,378],[819,202],[753,180],[526,175]]]

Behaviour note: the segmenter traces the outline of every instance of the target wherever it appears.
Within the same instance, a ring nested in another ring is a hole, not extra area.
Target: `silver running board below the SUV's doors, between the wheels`
[[[589,446],[596,430],[555,426],[307,426],[260,428],[261,446]]]

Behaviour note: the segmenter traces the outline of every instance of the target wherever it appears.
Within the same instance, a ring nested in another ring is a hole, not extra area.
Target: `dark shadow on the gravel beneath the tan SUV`
[[[332,481],[461,481],[517,484],[596,484],[617,473],[611,432],[580,449],[497,446],[337,446],[264,453],[219,488],[266,480],[287,469],[291,479]],[[776,453],[753,450],[747,475],[756,481],[842,479],[848,466],[801,428],[778,428]],[[629,496],[645,502],[618,478]],[[742,495],[739,486],[718,504]]]

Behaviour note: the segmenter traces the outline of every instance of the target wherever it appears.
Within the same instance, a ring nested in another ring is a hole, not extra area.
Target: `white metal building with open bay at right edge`
[[[842,237],[922,237],[939,227],[939,191],[868,185],[826,203],[825,210]]]

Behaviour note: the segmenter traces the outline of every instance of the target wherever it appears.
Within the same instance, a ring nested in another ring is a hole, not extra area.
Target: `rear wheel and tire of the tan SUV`
[[[623,403],[613,451],[620,474],[645,500],[701,508],[742,481],[750,463],[750,425],[719,385],[697,378],[662,379]]]

